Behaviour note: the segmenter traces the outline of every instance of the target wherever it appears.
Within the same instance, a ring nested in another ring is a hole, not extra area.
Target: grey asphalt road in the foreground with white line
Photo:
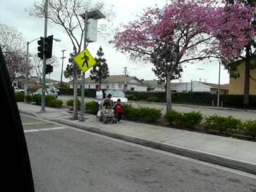
[[[37,192],[256,191],[256,175],[21,118]]]

